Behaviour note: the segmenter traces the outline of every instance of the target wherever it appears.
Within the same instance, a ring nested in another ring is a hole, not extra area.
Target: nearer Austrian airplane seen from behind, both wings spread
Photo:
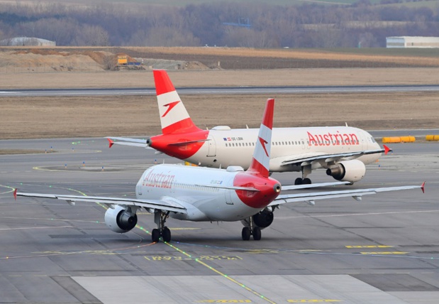
[[[136,198],[26,193],[18,192],[17,189],[13,195],[15,198],[21,196],[66,200],[70,205],[77,201],[99,202],[109,207],[105,212],[105,223],[117,233],[133,229],[138,222],[136,212],[144,209],[154,214],[157,224],[157,228],[151,232],[153,242],[160,241],[160,237],[165,242],[171,241],[171,231],[165,226],[168,217],[194,222],[240,221],[244,225],[242,239],[247,241],[252,236],[257,241],[261,239],[261,230],[272,224],[274,209],[287,202],[304,201],[314,205],[316,200],[334,197],[352,196],[355,200],[361,200],[362,195],[377,192],[415,188],[424,190],[425,183],[421,186],[280,195],[281,183],[269,176],[273,113],[274,99],[268,99],[248,170],[239,166],[218,169],[177,164],[153,165],[138,180],[135,186]],[[326,184],[328,183],[291,185],[283,190]]]

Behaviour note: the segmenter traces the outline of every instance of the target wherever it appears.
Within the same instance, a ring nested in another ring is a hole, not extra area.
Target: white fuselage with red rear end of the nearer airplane
[[[276,185],[277,180],[237,167],[218,170],[162,164],[145,170],[136,185],[136,196],[184,206],[186,215],[170,213],[176,219],[233,222],[267,207],[279,194],[273,191]],[[239,187],[255,191],[238,190]]]

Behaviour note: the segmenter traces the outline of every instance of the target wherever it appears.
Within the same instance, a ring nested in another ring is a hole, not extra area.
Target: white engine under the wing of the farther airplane
[[[326,170],[326,174],[332,176],[336,180],[355,183],[365,177],[366,166],[362,161],[353,159],[352,161],[341,161],[337,165]]]

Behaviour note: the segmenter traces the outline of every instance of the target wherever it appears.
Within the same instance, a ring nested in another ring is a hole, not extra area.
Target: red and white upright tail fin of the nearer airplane
[[[274,99],[267,99],[264,116],[257,136],[255,152],[249,171],[259,173],[265,178],[269,176],[269,157],[272,146]]]

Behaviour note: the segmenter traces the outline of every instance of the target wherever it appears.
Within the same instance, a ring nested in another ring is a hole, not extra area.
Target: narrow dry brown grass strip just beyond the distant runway
[[[175,87],[437,85],[439,68],[169,71]],[[11,73],[0,89],[154,87],[151,71]]]

